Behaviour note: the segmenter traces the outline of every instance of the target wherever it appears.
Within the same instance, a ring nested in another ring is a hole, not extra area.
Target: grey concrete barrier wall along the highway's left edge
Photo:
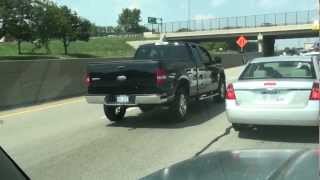
[[[226,68],[242,64],[241,55],[219,56]],[[0,109],[83,95],[87,64],[104,61],[110,59],[0,61]]]

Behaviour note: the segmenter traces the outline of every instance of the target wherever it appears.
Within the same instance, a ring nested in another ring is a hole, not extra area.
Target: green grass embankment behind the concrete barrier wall
[[[136,38],[92,38],[89,42],[76,41],[69,46],[69,54],[64,55],[61,41],[50,41],[51,53],[47,54],[45,48],[34,48],[31,43],[22,43],[22,55],[18,55],[17,43],[0,43],[0,60],[28,60],[28,59],[63,59],[63,58],[112,58],[131,57],[134,49],[126,42],[141,40]]]

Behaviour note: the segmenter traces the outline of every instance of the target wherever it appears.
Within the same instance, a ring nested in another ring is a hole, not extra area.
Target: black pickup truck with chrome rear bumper
[[[132,60],[89,64],[86,99],[103,104],[111,121],[123,120],[128,107],[145,112],[157,106],[185,120],[190,100],[223,102],[225,80],[221,59],[211,58],[203,47],[161,42],[139,47]]]

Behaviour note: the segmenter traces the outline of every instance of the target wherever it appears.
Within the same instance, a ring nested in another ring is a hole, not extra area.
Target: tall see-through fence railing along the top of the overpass
[[[145,25],[153,32],[192,32],[222,29],[271,27],[296,24],[312,24],[318,18],[317,10],[261,14],[251,16],[210,18]]]

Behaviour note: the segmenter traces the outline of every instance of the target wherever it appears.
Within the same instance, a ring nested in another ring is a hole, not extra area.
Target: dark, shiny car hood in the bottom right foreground
[[[155,172],[143,180],[319,180],[317,150],[215,152]]]

